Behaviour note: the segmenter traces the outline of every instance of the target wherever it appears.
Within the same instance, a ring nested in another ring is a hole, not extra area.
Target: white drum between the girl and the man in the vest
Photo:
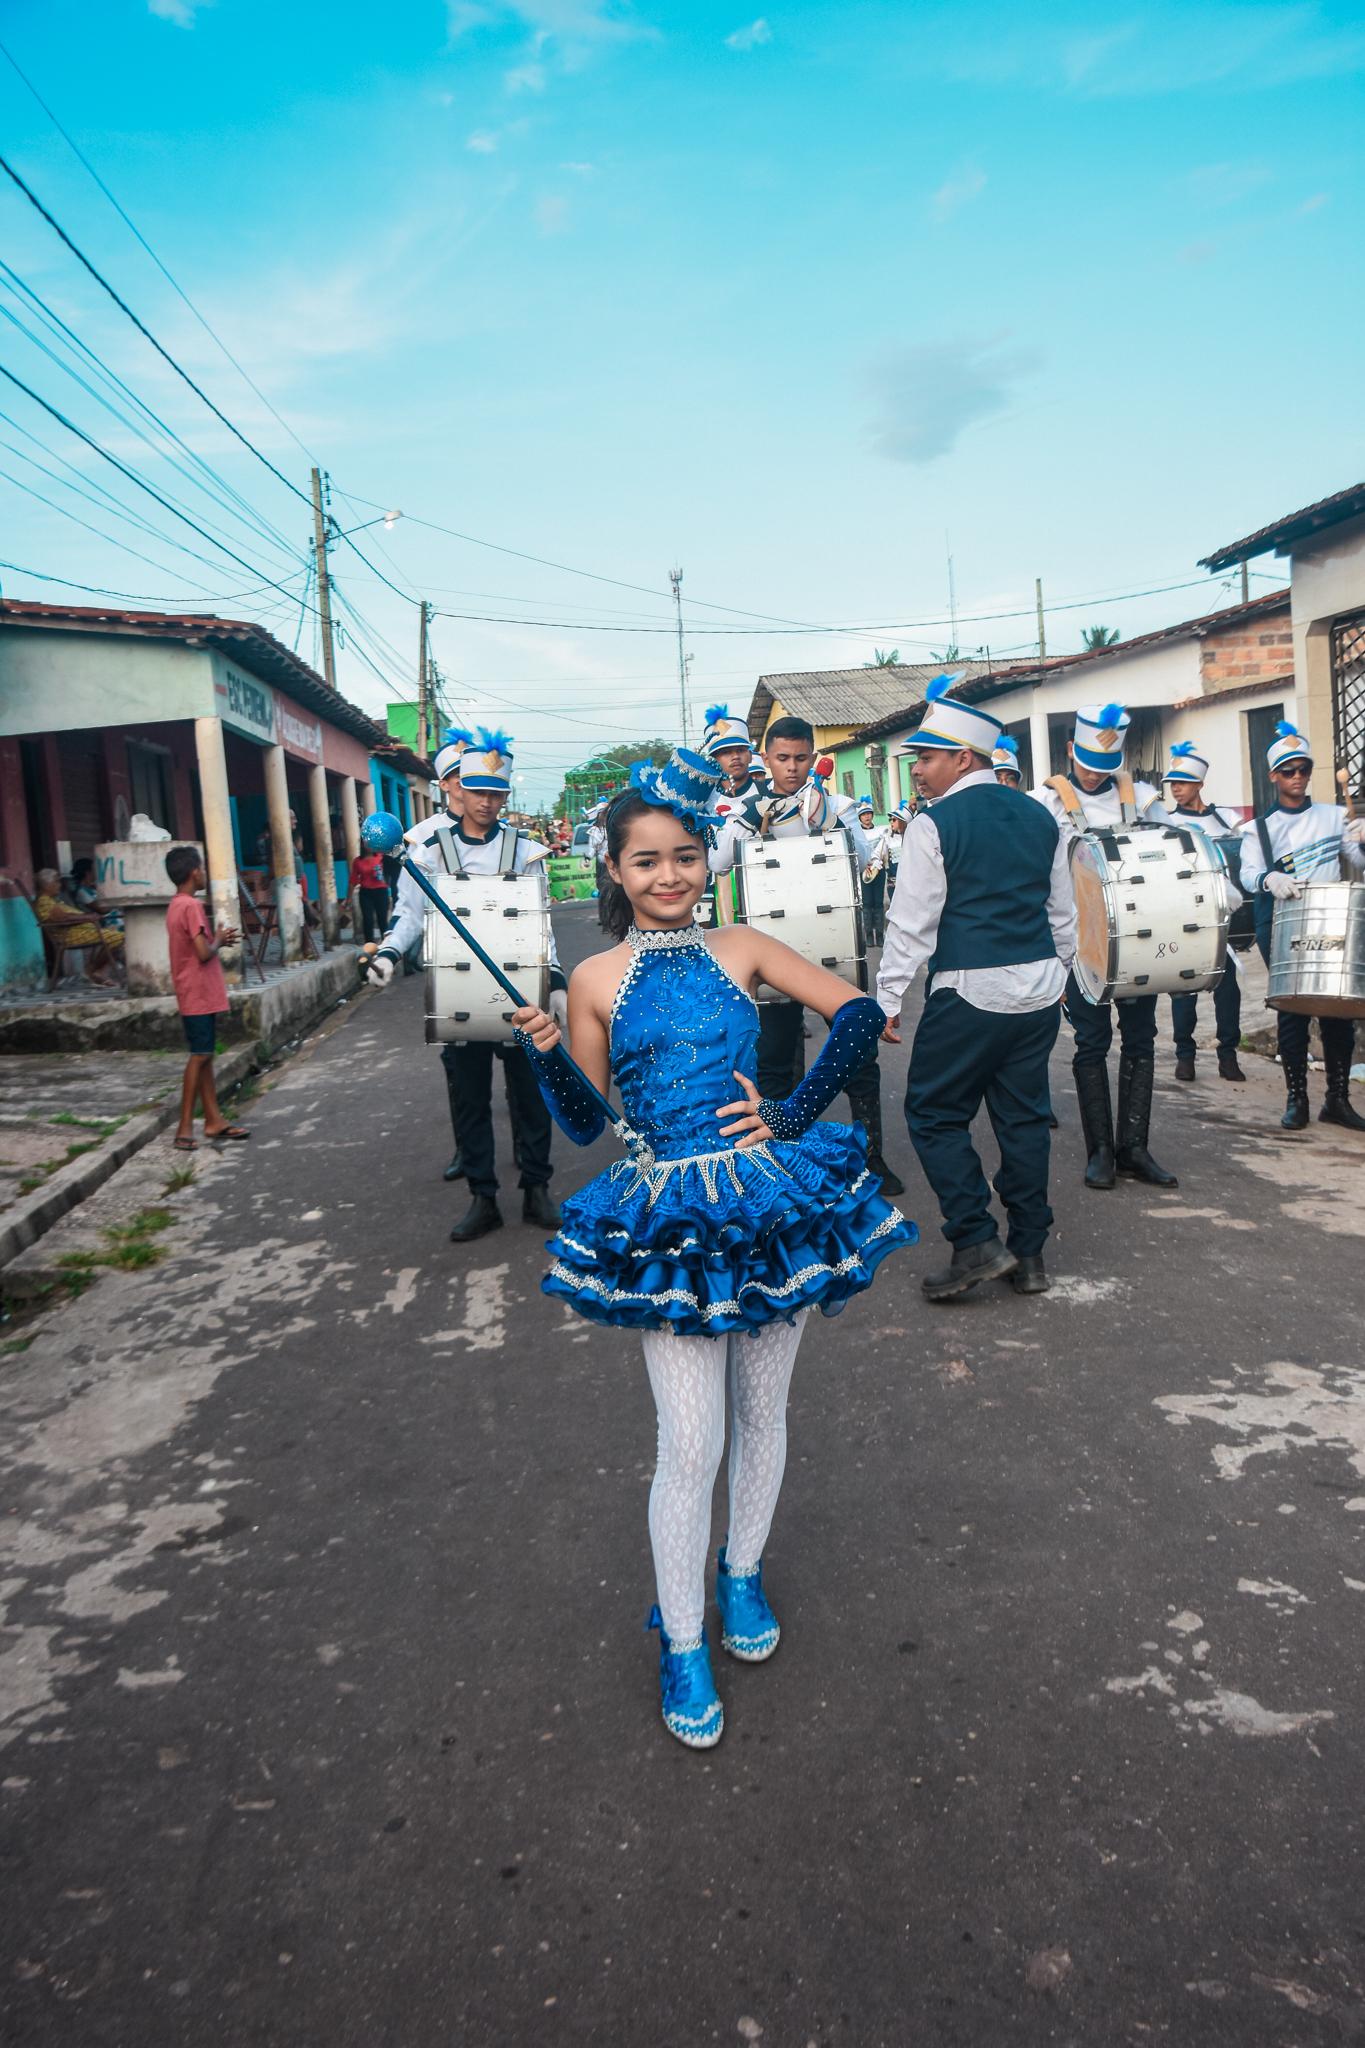
[[[780,938],[812,967],[866,993],[868,958],[857,856],[845,831],[745,840],[735,864],[735,922]],[[790,997],[759,985],[761,1004]]]

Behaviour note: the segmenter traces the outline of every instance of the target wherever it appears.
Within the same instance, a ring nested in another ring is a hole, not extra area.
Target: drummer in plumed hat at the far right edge
[[[1342,868],[1365,872],[1365,821],[1347,819],[1340,803],[1312,803],[1308,778],[1312,756],[1302,733],[1283,719],[1267,748],[1275,803],[1265,817],[1242,825],[1242,887],[1257,907],[1257,946],[1271,963],[1271,930],[1275,905],[1304,895],[1304,883],[1334,883]],[[1308,1124],[1308,1028],[1312,1018],[1281,1010],[1275,1018],[1279,1059],[1285,1069],[1287,1104],[1279,1118],[1285,1130]],[[1320,1124],[1342,1124],[1365,1130],[1365,1116],[1351,1108],[1351,1059],[1355,1022],[1351,1018],[1318,1018],[1322,1032],[1322,1065],[1326,1067],[1326,1100],[1318,1110]]]

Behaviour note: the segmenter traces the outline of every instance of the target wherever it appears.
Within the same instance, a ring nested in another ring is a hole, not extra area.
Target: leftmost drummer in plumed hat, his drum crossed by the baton
[[[440,770],[442,754],[436,768]],[[544,846],[530,840],[512,825],[499,825],[497,813],[512,793],[512,741],[505,733],[489,733],[483,727],[473,743],[465,748],[458,762],[463,811],[452,819],[424,819],[420,834],[405,834],[409,858],[426,874],[524,874],[538,860],[546,858]],[[444,780],[442,780],[444,788]],[[387,987],[395,963],[407,946],[422,934],[428,901],[411,874],[399,881],[397,903],[385,942],[370,963],[370,983]],[[551,956],[553,958],[553,956]],[[551,1006],[563,1010],[567,981],[563,969],[553,961]],[[465,1161],[471,1204],[467,1214],[450,1231],[450,1241],[469,1245],[489,1231],[501,1229],[497,1206],[497,1167],[493,1157],[493,1057],[501,1059],[508,1081],[508,1108],[516,1133],[516,1161],[522,1186],[522,1221],[536,1223],[546,1231],[559,1225],[559,1210],[551,1200],[551,1118],[530,1061],[520,1044],[491,1042],[446,1042],[440,1059],[446,1069],[446,1085],[454,1110],[454,1128]]]

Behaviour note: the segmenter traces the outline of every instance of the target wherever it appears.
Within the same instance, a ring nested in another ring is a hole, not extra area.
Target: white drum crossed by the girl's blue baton
[[[551,903],[542,870],[526,874],[436,874],[440,897],[469,926],[528,1004],[551,999]],[[512,1042],[512,1010],[487,967],[440,911],[426,913],[426,1042]]]

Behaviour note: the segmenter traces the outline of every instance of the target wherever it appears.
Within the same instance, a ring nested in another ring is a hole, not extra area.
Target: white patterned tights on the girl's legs
[[[796,1323],[729,1337],[651,1331],[645,1364],[659,1409],[659,1464],[649,1489],[649,1542],[663,1628],[698,1642],[706,1612],[710,1497],[724,1450],[731,1397],[731,1524],[726,1563],[751,1571],[772,1528],[786,1466],[786,1395],[804,1311]]]

